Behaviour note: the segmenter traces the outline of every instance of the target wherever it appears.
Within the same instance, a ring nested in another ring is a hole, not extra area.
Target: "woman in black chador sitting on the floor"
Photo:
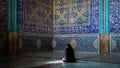
[[[65,58],[64,58],[63,62],[76,62],[74,50],[70,44],[67,44],[67,46],[66,46]]]

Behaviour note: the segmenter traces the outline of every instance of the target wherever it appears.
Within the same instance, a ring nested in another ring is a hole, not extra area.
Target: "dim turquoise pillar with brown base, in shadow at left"
[[[8,0],[8,55],[16,55],[17,0]]]

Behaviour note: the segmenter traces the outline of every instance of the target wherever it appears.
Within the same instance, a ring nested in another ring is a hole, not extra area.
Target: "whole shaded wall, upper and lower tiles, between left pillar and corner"
[[[52,50],[53,1],[19,0],[18,52]]]

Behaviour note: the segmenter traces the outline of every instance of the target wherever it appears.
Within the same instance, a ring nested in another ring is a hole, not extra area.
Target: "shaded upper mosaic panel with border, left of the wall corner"
[[[52,34],[52,4],[52,0],[19,0],[19,32]]]

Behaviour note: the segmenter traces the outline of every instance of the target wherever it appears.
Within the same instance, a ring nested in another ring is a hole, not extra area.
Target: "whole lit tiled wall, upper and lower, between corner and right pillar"
[[[99,52],[99,0],[54,0],[54,46]]]

